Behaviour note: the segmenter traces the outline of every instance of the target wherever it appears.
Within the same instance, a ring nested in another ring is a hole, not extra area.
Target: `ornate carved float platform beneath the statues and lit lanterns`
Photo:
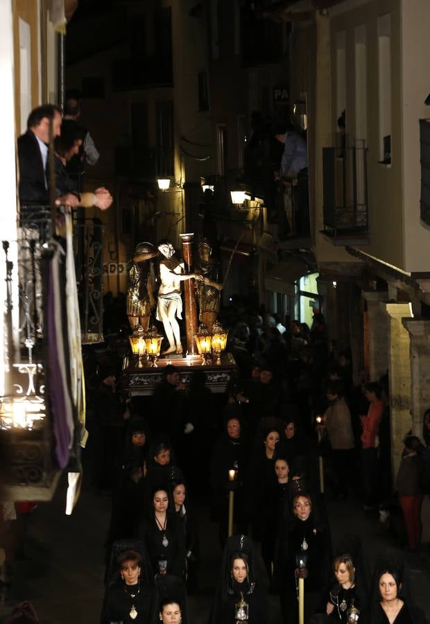
[[[144,365],[138,367],[132,362],[132,358],[126,358],[123,366],[123,388],[128,390],[130,397],[149,397],[153,394],[155,386],[163,376],[163,369],[168,364],[173,364],[180,374],[183,383],[189,383],[193,372],[203,372],[206,378],[206,386],[212,392],[225,392],[227,384],[237,375],[237,365],[230,353],[221,354],[221,364],[209,363],[203,365],[202,357],[189,355],[184,358],[164,357],[157,360],[156,367]]]

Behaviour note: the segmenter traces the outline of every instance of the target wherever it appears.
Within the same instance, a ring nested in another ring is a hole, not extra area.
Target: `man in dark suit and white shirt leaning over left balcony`
[[[49,205],[47,162],[49,124],[53,136],[60,136],[61,110],[52,104],[38,106],[28,116],[27,132],[18,139],[19,201],[22,208],[35,209]],[[78,198],[71,193],[57,198],[58,204],[75,207]]]

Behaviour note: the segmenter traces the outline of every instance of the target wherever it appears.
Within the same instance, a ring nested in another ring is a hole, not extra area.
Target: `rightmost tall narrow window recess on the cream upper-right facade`
[[[391,163],[390,15],[378,18],[379,162]]]

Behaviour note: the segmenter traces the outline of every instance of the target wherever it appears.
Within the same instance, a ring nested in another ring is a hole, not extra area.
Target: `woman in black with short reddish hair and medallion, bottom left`
[[[135,542],[135,548],[116,555],[116,569],[107,585],[101,624],[153,624],[157,608],[153,575],[148,563],[144,564],[143,544]]]

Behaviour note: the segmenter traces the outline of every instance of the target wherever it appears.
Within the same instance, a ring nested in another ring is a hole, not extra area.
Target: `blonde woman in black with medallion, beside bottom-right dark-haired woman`
[[[336,557],[333,567],[337,583],[330,589],[327,599],[326,613],[329,621],[347,623],[352,613],[359,616],[359,621],[367,621],[365,595],[363,591],[357,590],[355,567],[351,555]]]

